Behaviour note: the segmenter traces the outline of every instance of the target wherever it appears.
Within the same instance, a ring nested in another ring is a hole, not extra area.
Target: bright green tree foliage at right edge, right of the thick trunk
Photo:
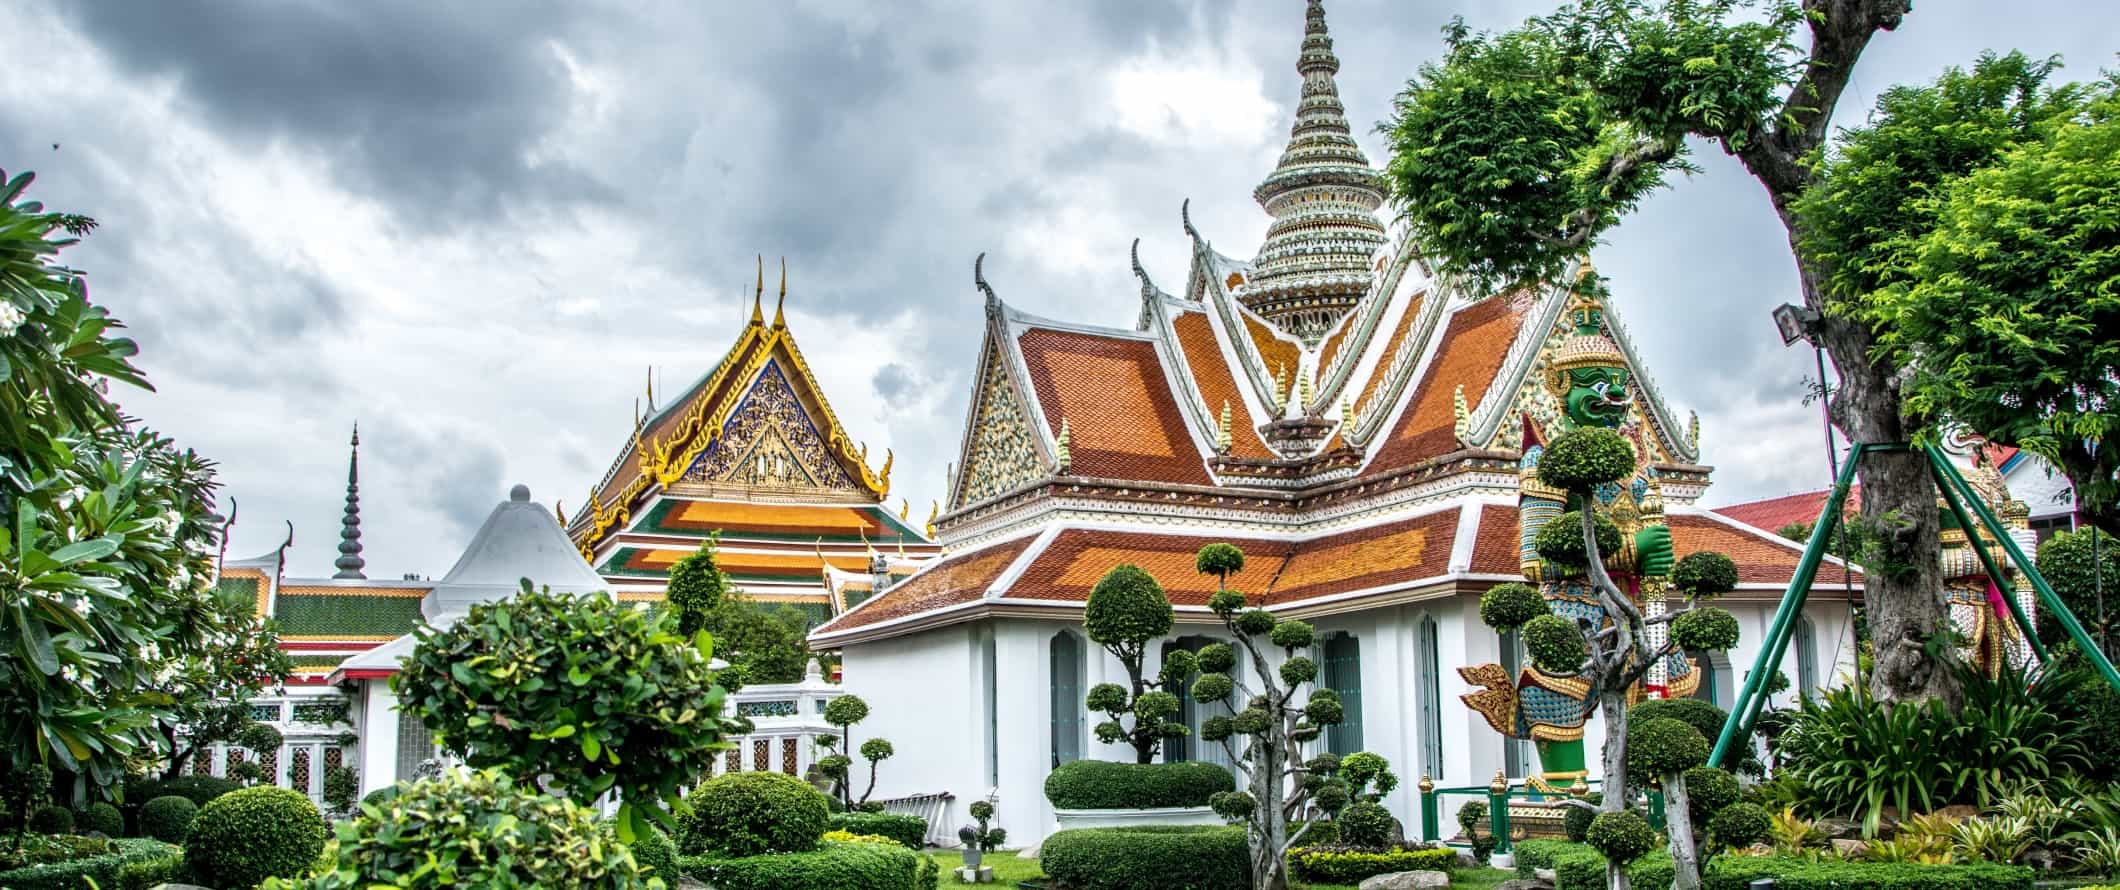
[[[1796,201],[1802,248],[1910,371],[1906,407],[2056,458],[2107,528],[2120,458],[2120,83],[1982,55],[1887,89]]]

